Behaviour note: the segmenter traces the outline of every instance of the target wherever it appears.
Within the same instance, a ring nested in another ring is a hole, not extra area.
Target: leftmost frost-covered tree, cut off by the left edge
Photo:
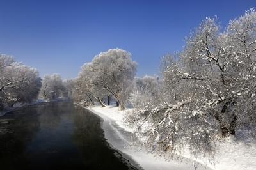
[[[16,63],[4,54],[0,56],[0,105],[12,107],[17,102],[29,103],[38,97],[41,79],[35,68]]]

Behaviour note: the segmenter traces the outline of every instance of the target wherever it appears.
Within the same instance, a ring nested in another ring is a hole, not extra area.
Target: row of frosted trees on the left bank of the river
[[[62,81],[60,75],[46,75],[41,79],[35,68],[17,63],[12,56],[0,54],[0,110],[38,98],[52,100],[72,96],[73,81]]]

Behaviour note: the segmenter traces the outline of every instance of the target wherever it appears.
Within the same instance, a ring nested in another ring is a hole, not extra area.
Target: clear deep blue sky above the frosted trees
[[[225,27],[253,7],[255,0],[0,0],[0,53],[41,76],[60,73],[67,79],[99,52],[118,47],[132,53],[138,76],[152,75],[161,56],[181,50],[202,19],[218,16]]]

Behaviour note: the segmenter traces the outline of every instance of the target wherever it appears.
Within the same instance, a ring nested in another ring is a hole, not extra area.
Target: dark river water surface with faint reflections
[[[0,169],[136,169],[109,147],[97,116],[72,102],[0,117]]]

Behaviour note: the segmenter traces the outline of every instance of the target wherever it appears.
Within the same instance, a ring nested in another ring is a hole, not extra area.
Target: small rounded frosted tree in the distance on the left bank
[[[42,88],[40,91],[40,96],[52,100],[60,97],[60,95],[65,91],[65,86],[61,76],[54,73],[52,75],[45,75],[42,80]]]

